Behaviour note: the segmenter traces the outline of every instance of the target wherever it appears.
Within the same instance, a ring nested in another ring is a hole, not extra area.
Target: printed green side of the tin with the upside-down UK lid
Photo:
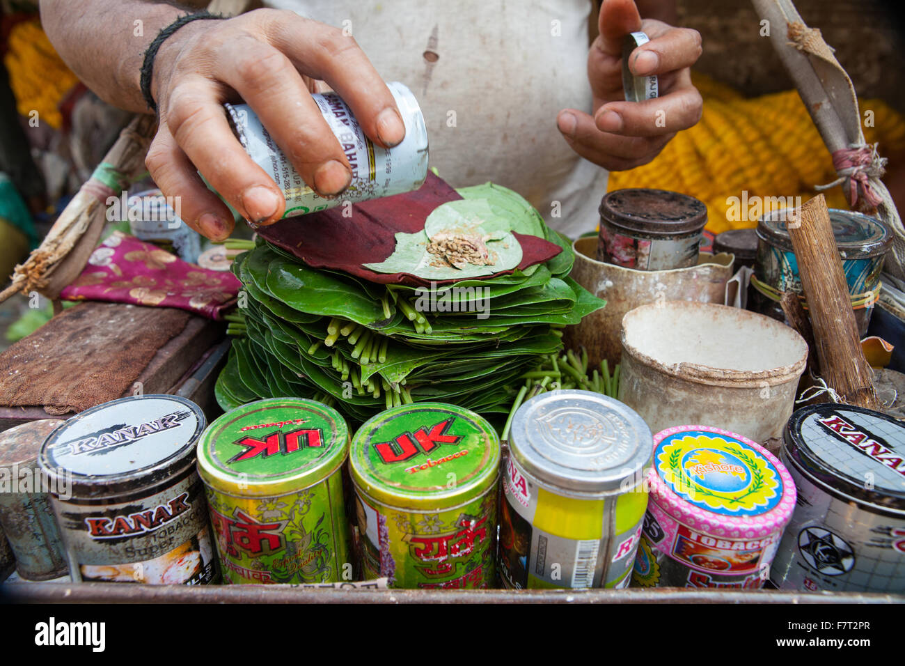
[[[339,470],[279,497],[233,497],[207,487],[224,582],[352,580]]]

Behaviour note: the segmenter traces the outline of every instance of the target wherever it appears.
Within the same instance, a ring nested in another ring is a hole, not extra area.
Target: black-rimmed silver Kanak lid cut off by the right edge
[[[786,423],[787,458],[818,486],[905,510],[905,423],[879,411],[823,403]]]

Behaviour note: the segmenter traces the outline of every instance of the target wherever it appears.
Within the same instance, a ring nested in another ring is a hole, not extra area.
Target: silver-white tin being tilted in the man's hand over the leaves
[[[252,161],[282,188],[283,217],[305,215],[339,206],[389,197],[420,188],[427,178],[427,127],[412,92],[402,83],[387,83],[405,124],[405,139],[383,149],[365,136],[352,110],[336,92],[311,95],[352,167],[352,182],[341,197],[324,198],[301,179],[258,116],[247,104],[226,104],[233,130]]]

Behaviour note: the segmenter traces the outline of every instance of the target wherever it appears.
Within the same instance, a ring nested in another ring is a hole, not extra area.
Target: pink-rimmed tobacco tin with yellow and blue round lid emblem
[[[788,470],[729,430],[679,426],[653,442],[634,584],[761,587],[795,508]]]

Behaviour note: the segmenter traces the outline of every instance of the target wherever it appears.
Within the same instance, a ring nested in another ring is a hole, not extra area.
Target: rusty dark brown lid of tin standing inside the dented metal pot
[[[707,224],[702,201],[665,189],[616,189],[605,194],[599,212],[614,227],[658,236],[691,234]]]

